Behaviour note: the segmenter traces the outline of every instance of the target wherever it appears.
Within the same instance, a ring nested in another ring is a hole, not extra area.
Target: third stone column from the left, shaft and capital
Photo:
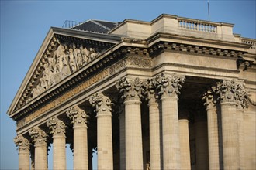
[[[47,120],[47,126],[50,134],[53,134],[53,169],[66,169],[66,125],[57,117],[51,117]]]

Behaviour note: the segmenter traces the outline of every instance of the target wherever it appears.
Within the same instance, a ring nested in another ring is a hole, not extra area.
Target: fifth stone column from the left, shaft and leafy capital
[[[111,100],[102,93],[90,97],[97,113],[98,169],[113,169]]]

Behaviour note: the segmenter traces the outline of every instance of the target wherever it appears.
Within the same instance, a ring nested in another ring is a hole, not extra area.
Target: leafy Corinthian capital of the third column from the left
[[[57,117],[50,117],[50,119],[47,120],[47,126],[50,128],[50,134],[53,134],[53,136],[65,135],[66,133],[66,125]]]

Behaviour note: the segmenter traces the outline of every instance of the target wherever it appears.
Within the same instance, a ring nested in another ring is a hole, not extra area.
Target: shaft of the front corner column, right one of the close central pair
[[[180,169],[178,98],[162,97],[164,169]]]

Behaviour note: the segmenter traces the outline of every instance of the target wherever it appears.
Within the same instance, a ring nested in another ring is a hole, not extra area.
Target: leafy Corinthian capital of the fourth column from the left
[[[71,124],[86,125],[88,115],[85,113],[85,110],[82,110],[77,105],[68,108],[66,113],[67,117],[71,119]]]

